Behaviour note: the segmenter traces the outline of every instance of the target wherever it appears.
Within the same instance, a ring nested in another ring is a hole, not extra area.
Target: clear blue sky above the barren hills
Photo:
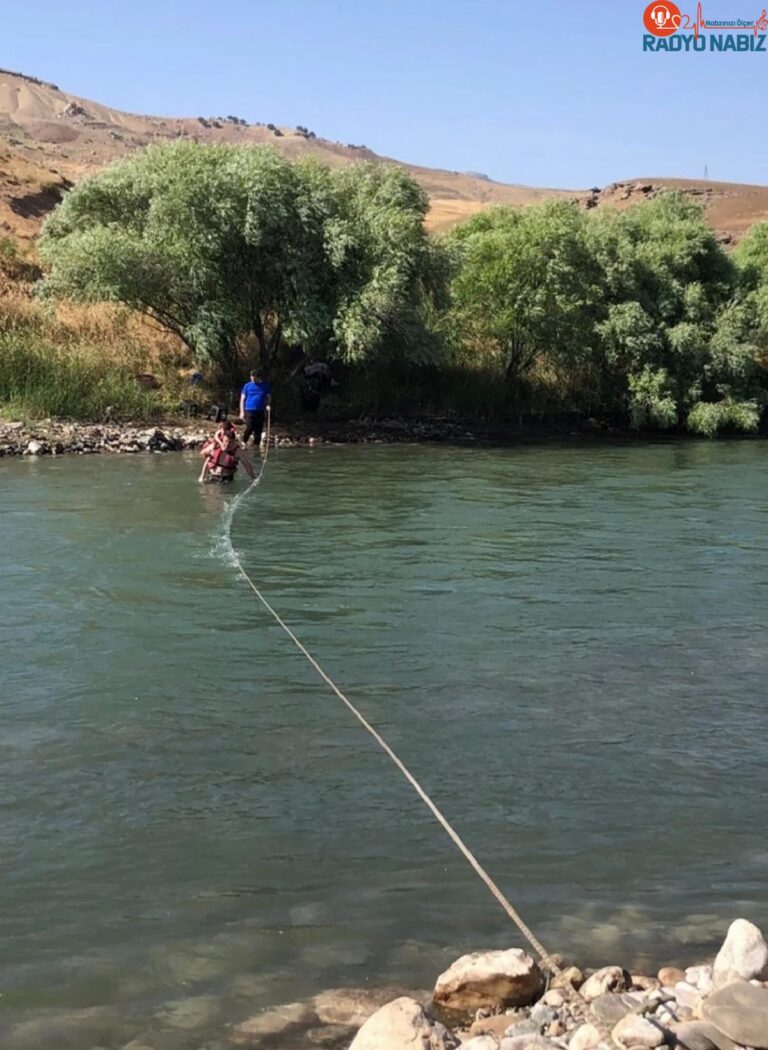
[[[763,8],[703,3],[710,19]],[[0,65],[120,109],[304,124],[503,182],[701,177],[706,164],[710,178],[768,183],[768,54],[643,54],[644,6],[37,0],[4,7]]]

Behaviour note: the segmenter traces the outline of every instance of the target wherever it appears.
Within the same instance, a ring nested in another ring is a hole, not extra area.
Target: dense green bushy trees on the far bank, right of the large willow
[[[768,375],[768,236],[729,257],[666,193],[626,211],[563,202],[472,218],[448,238],[462,339],[500,377],[642,428],[755,429]]]

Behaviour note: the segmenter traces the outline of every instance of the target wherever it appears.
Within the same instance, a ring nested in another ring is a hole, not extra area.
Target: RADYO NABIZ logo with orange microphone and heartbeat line
[[[681,12],[672,0],[653,0],[643,12],[643,25],[644,51],[768,52],[765,7],[757,18],[707,19],[701,0],[696,17]]]

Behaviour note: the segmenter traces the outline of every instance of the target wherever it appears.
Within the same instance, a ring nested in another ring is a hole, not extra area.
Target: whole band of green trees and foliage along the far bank
[[[394,166],[155,146],[67,194],[42,291],[141,311],[224,377],[256,357],[277,377],[303,356],[343,362],[379,411],[760,425],[768,224],[728,254],[677,192],[623,211],[497,207],[442,238],[427,206]]]

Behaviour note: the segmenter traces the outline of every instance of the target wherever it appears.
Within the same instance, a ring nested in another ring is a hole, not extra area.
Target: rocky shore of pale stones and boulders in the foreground
[[[431,993],[337,989],[231,1029],[245,1050],[768,1050],[768,944],[744,919],[714,960],[652,975],[526,951],[462,956]],[[147,1050],[147,1048],[142,1048]]]

